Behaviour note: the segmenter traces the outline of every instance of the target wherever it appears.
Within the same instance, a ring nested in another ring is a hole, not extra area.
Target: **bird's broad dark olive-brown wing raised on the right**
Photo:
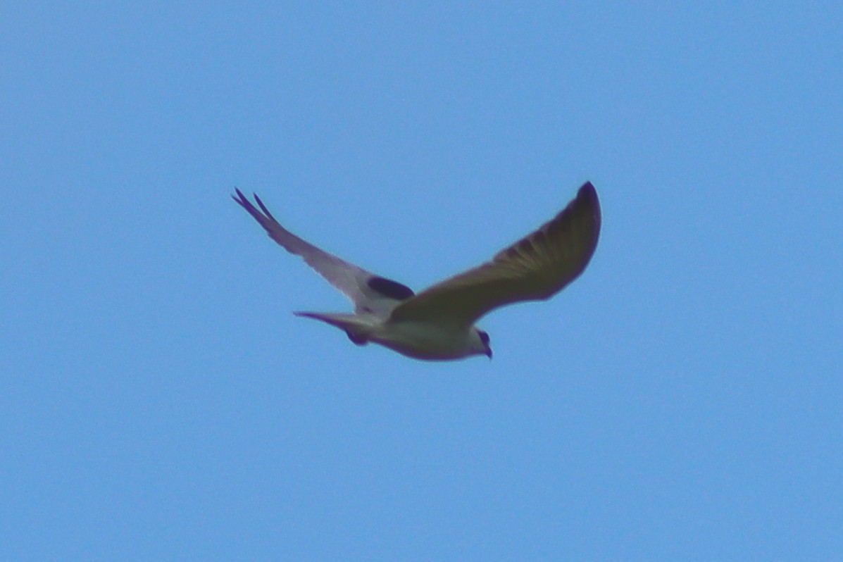
[[[599,232],[597,192],[586,182],[550,222],[491,261],[400,303],[389,320],[470,326],[494,308],[550,298],[583,272],[597,247]]]

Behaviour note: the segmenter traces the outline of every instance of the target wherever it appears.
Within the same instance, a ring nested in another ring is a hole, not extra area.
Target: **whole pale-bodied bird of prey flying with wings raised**
[[[303,260],[346,295],[354,313],[298,312],[342,329],[357,345],[374,342],[405,356],[444,361],[483,355],[489,335],[475,322],[495,308],[546,300],[577,278],[597,247],[600,205],[591,182],[533,233],[484,264],[413,292],[305,242],[277,222],[255,195],[258,209],[240,190],[232,195],[269,237]]]

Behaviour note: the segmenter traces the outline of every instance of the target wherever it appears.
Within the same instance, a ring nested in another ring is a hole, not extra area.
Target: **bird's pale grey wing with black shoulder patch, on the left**
[[[235,191],[237,195],[232,195],[232,199],[255,217],[255,221],[264,227],[269,237],[291,254],[302,256],[310,267],[352,301],[355,312],[385,315],[395,308],[398,302],[412,297],[413,292],[409,287],[376,276],[298,238],[272,217],[260,197],[255,195],[255,201],[260,206],[259,211],[240,190]]]

